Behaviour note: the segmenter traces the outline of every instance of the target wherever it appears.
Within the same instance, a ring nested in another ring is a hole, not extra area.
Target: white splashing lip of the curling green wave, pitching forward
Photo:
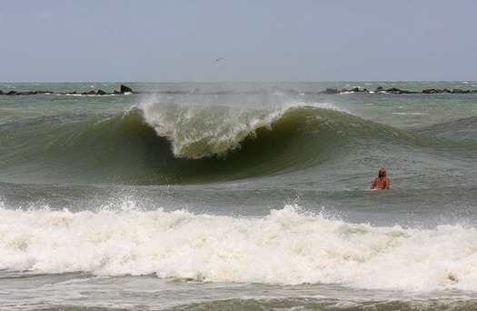
[[[227,156],[258,128],[270,129],[285,110],[245,111],[230,106],[144,104],[145,122],[171,141],[174,156],[199,159]]]

